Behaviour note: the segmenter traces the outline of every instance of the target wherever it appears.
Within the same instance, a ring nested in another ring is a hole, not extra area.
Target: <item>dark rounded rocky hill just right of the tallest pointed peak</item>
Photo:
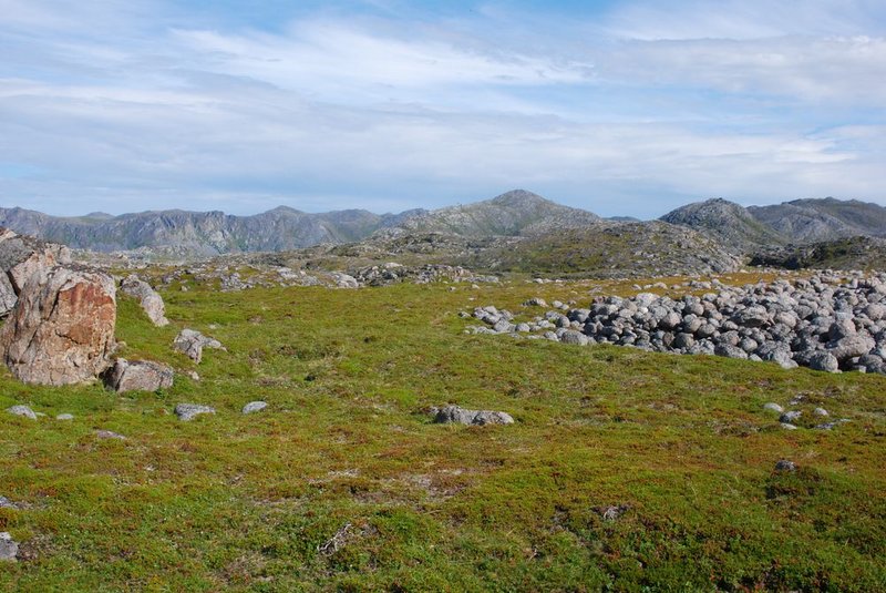
[[[711,235],[736,253],[786,243],[783,235],[754,218],[746,208],[719,197],[677,208],[661,221]]]

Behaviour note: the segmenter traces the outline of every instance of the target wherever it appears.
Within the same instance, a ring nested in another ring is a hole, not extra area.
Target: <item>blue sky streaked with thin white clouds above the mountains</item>
[[[0,206],[886,205],[883,0],[0,0]]]

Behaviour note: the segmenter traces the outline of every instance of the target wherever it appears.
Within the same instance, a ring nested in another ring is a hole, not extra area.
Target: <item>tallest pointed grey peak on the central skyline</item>
[[[562,206],[525,190],[514,190],[493,200],[411,216],[385,233],[521,236],[581,228],[599,222],[600,217],[590,212]]]

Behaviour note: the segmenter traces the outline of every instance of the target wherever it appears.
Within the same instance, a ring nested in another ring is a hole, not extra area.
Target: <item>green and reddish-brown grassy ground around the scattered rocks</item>
[[[175,290],[163,329],[124,300],[131,358],[189,368],[181,327],[229,351],[131,397],[0,376],[0,408],[50,415],[0,417],[0,493],[31,505],[0,510],[25,559],[0,589],[886,587],[886,378],[465,336],[455,316],[590,286]],[[761,407],[797,393],[853,421],[781,430]],[[254,399],[270,408],[240,416]],[[182,423],[178,401],[218,415]],[[517,423],[430,423],[447,401]]]

